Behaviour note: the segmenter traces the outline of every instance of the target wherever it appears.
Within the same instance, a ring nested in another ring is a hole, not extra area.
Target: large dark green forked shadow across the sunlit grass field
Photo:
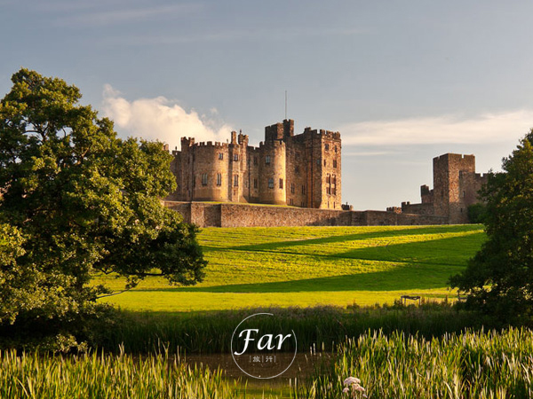
[[[195,293],[295,293],[314,291],[401,291],[447,286],[448,278],[463,270],[469,257],[479,249],[481,234],[429,241],[358,248],[342,254],[320,255],[333,259],[378,260],[394,262],[392,269],[359,272],[341,276],[301,278],[290,281],[247,283],[220,286],[139,289],[136,291],[172,291]],[[473,237],[478,236],[480,237]],[[468,243],[468,245],[466,245]],[[468,246],[468,248],[466,248]],[[465,249],[468,249],[466,251]],[[384,260],[377,251],[390,256]],[[456,254],[453,254],[456,252]],[[458,253],[458,254],[457,254]],[[276,254],[279,254],[276,252]],[[450,256],[450,254],[453,254]],[[316,254],[309,255],[315,257]],[[453,259],[453,262],[450,260]],[[238,278],[238,275],[235,275]]]

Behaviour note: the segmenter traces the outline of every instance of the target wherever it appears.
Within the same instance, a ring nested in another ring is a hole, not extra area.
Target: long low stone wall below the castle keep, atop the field
[[[199,227],[380,226],[447,223],[447,218],[440,216],[396,214],[385,211],[172,201],[165,201],[164,205],[183,215],[187,223],[195,223]]]

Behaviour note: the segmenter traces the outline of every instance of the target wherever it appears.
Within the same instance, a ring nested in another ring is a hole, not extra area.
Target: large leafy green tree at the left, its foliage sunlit
[[[127,287],[201,281],[195,226],[161,204],[175,188],[163,145],[117,138],[60,79],[20,69],[12,83],[0,101],[0,325],[94,313],[109,293],[91,285],[97,272]]]

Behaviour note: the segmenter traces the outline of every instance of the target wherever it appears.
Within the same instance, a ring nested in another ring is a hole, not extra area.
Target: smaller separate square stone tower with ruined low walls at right
[[[402,208],[388,211],[414,215],[444,216],[448,223],[468,223],[468,207],[478,200],[477,193],[487,183],[487,175],[475,173],[475,157],[445,153],[434,158],[434,189],[420,187],[421,203],[402,202]]]

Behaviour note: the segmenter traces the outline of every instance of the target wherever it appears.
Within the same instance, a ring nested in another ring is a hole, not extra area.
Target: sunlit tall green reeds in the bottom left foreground
[[[50,356],[0,351],[3,399],[234,398],[237,383],[177,356]]]

